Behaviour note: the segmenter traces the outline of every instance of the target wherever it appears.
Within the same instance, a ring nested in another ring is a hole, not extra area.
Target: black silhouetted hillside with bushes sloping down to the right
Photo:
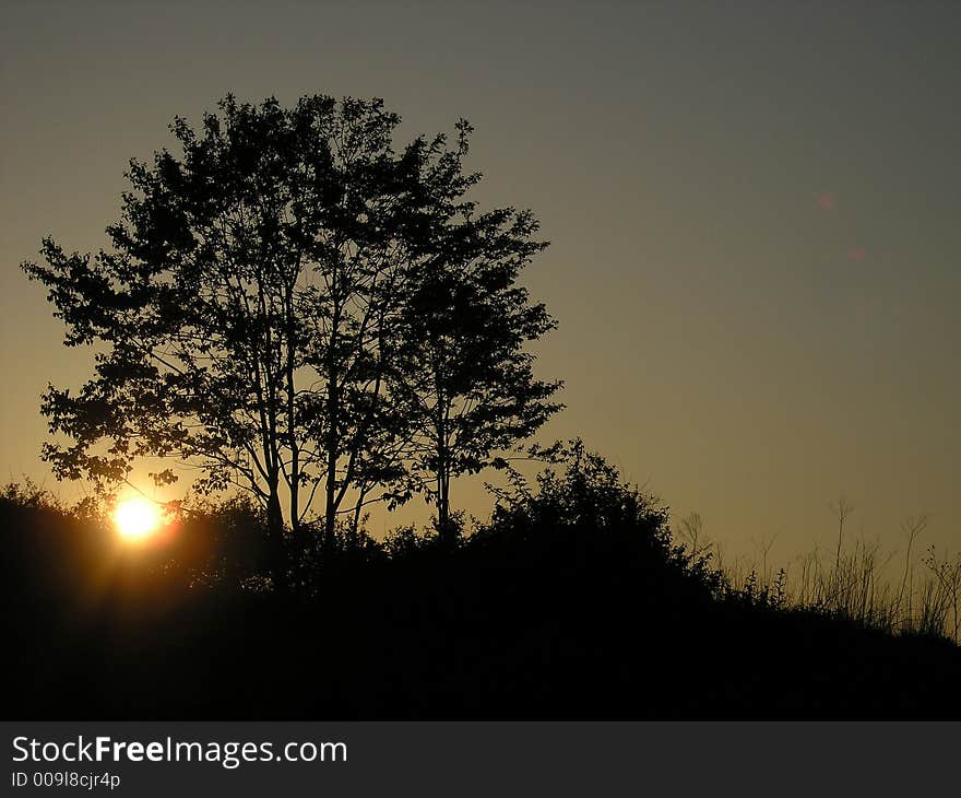
[[[211,543],[223,517],[193,530],[205,545],[187,525],[133,554],[7,498],[5,714],[961,717],[958,646],[725,589],[604,468],[542,481],[456,548],[407,535],[342,552],[299,596],[238,589]]]

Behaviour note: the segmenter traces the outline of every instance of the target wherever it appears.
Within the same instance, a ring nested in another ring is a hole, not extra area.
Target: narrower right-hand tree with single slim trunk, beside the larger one
[[[471,202],[447,216],[431,236],[436,257],[411,283],[390,389],[412,424],[412,482],[436,505],[438,531],[449,540],[456,535],[451,479],[501,466],[498,453],[561,408],[549,401],[561,384],[535,379],[525,349],[555,327],[517,282],[547,246],[532,240],[536,220],[510,208],[475,215]]]

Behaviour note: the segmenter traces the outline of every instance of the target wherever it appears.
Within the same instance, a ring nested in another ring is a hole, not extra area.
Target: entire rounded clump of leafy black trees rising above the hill
[[[404,502],[429,469],[443,525],[450,477],[556,409],[556,384],[533,380],[522,351],[551,321],[513,284],[543,245],[530,213],[475,216],[463,199],[479,179],[462,172],[464,121],[454,148],[422,136],[396,152],[400,117],[380,99],[285,109],[228,95],[218,110],[198,131],[175,120],[180,155],[130,162],[108,251],[68,255],[48,237],[46,262],[22,265],[49,289],[64,343],[100,350],[79,392],[44,395],[50,431],[70,439],[44,457],[102,486],[170,457],[202,491],[249,491],[283,584],[285,523],[316,548],[304,521],[322,505],[332,547],[341,513],[356,524],[369,502]],[[455,413],[461,399],[472,408]]]

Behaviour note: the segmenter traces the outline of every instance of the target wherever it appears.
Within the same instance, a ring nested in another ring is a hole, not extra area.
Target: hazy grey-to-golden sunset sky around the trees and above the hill
[[[482,206],[531,208],[558,329],[536,373],[675,518],[784,561],[851,535],[961,548],[956,2],[50,2],[0,30],[0,479],[57,485],[48,382],[79,387],[19,263],[106,246],[130,157],[233,92],[383,97],[475,127]],[[455,505],[484,516],[475,480]],[[379,521],[384,528],[393,519]],[[773,543],[772,543],[773,541]]]

